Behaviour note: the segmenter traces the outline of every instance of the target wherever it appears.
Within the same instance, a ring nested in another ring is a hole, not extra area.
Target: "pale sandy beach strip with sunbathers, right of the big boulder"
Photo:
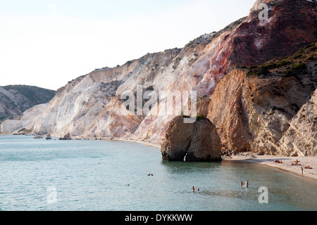
[[[317,157],[287,157],[287,156],[275,156],[275,155],[255,155],[253,153],[240,153],[240,155],[233,155],[231,157],[225,157],[224,160],[237,160],[249,163],[265,164],[270,167],[277,167],[280,169],[293,172],[302,176],[302,169],[304,168],[304,176],[317,179]],[[275,160],[280,160],[282,163],[276,163]],[[294,164],[294,161],[298,160],[298,165]],[[312,169],[305,169],[306,166],[310,166]]]

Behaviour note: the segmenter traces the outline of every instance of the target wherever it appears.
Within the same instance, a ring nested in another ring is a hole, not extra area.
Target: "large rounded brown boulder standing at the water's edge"
[[[206,117],[185,124],[183,117],[175,117],[169,124],[161,146],[163,160],[187,162],[220,161],[221,142],[216,127]]]

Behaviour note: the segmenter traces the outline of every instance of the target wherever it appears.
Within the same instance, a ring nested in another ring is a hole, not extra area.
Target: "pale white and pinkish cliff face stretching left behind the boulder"
[[[56,96],[36,120],[22,116],[18,121],[6,121],[6,124],[16,125],[7,128],[5,133],[25,128],[37,134],[55,136],[69,132],[72,136],[160,140],[174,115],[121,115],[120,108],[125,101],[120,99],[121,94],[125,91],[136,94],[139,85],[154,90],[158,97],[159,91],[197,89],[205,94],[206,86],[210,84],[198,88],[197,84],[205,82],[204,74],[209,69],[206,55],[210,46],[206,46],[216,34],[220,35],[216,39],[221,40],[228,33],[205,34],[184,49],[147,54],[125,65],[94,70],[78,77],[56,91]]]

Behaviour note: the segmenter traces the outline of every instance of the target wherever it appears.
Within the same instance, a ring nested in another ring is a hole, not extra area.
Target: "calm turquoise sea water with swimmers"
[[[259,203],[262,186],[268,203]],[[0,210],[289,211],[317,210],[316,199],[316,181],[263,165],[163,162],[158,148],[121,141],[0,136]]]

